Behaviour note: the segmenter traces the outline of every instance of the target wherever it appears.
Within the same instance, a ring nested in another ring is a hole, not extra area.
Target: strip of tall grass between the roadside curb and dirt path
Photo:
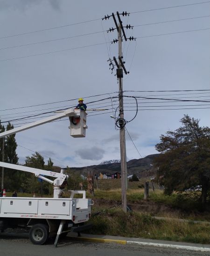
[[[210,225],[157,220],[149,214],[123,212],[120,208],[104,210],[91,217],[91,234],[210,243]]]

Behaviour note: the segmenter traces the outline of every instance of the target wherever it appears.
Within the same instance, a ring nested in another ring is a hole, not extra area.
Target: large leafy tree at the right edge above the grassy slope
[[[164,153],[155,159],[165,193],[202,185],[201,202],[206,205],[210,191],[210,128],[199,126],[198,119],[184,115],[182,126],[161,135],[155,147]]]

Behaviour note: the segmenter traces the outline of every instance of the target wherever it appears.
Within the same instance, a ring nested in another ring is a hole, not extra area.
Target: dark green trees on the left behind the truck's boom
[[[10,123],[7,124],[6,131],[13,129],[14,126]],[[0,132],[5,132],[5,127],[0,122]],[[4,146],[3,146],[4,144]],[[16,153],[17,143],[15,140],[15,134],[6,136],[0,139],[0,161],[2,161],[2,156],[4,154],[4,162],[11,164],[19,164],[18,155]],[[53,170],[53,162],[49,158],[47,164],[45,164],[44,157],[35,152],[30,156],[26,156],[24,166],[38,168],[42,170]],[[0,168],[1,170],[1,168]],[[81,176],[75,172],[70,171],[67,168],[66,173],[69,175],[69,182],[66,189],[76,190],[79,189],[79,183],[83,182],[83,187],[86,188],[87,184]],[[1,173],[0,173],[1,174]],[[48,177],[50,179],[50,177]],[[0,175],[0,184],[2,176]],[[4,168],[4,187],[1,189],[6,189],[7,191],[21,191],[28,193],[38,193],[41,194],[41,188],[43,194],[53,194],[53,186],[50,183],[42,182],[34,174],[18,171],[14,169]]]

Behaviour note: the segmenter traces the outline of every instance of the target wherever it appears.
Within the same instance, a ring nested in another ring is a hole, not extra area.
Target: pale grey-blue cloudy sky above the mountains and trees
[[[35,151],[60,167],[120,159],[119,130],[110,117],[118,117],[119,84],[107,61],[118,58],[118,44],[111,43],[118,35],[106,32],[115,28],[112,17],[102,21],[117,11],[130,13],[120,17],[133,26],[126,37],[136,38],[122,42],[130,71],[124,95],[132,96],[124,97],[127,121],[136,114],[133,97],[138,102],[126,124],[133,140],[126,132],[127,160],[158,153],[161,134],[180,127],[185,114],[210,126],[210,1],[0,0],[2,124],[54,115],[32,117],[72,108],[80,97],[88,109],[85,138],[70,136],[68,118],[17,133],[20,163]]]

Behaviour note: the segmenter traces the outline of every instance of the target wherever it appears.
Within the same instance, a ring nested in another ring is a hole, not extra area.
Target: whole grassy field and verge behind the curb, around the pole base
[[[98,181],[98,189],[95,189],[94,197],[87,192],[87,197],[95,201],[90,219],[93,228],[90,233],[210,243],[210,225],[177,220],[210,221],[210,212],[199,212],[193,197],[187,197],[187,199],[180,201],[177,193],[166,196],[161,190],[150,191],[149,199],[144,200],[144,189],[141,188],[144,182],[145,180],[128,182],[127,204],[131,205],[133,211],[125,213],[120,206],[121,181]],[[12,196],[12,193],[8,192],[7,197],[9,196]],[[39,194],[36,196],[41,197]],[[64,197],[69,196],[70,193],[65,191]],[[18,197],[33,197],[33,194],[18,192]],[[43,197],[52,197],[52,195],[43,195]],[[159,220],[154,219],[153,216],[171,219]]]

